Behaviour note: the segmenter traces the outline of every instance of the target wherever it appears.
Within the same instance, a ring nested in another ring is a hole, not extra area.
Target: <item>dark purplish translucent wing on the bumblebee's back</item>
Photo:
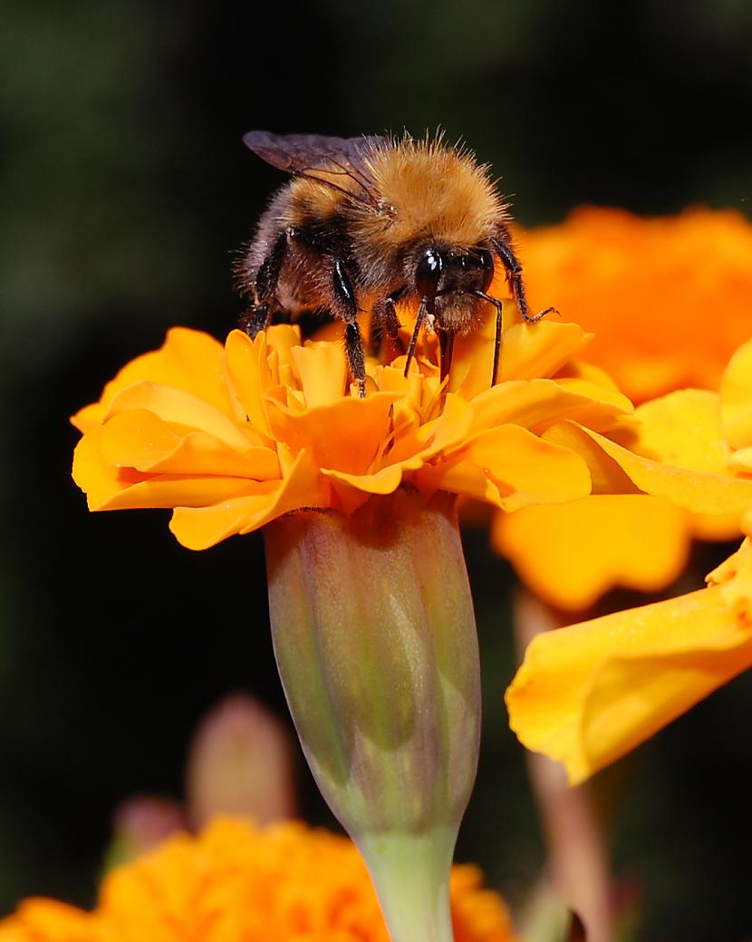
[[[287,173],[360,171],[362,156],[386,143],[376,135],[360,138],[324,138],[317,134],[270,134],[248,131],[243,143],[267,164]]]

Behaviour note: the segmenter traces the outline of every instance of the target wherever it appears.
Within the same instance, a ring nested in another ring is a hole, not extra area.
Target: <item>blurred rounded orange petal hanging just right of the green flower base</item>
[[[594,495],[497,513],[491,541],[533,592],[578,611],[616,586],[656,592],[673,582],[689,555],[691,526],[690,514],[660,497]]]

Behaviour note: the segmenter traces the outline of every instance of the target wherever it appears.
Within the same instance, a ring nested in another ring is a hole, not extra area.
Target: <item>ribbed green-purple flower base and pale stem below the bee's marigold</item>
[[[264,530],[275,654],[303,750],[393,942],[452,939],[480,672],[454,498],[400,490]]]

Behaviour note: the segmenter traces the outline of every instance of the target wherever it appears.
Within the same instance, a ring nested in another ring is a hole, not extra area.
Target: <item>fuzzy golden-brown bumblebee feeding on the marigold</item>
[[[371,342],[396,340],[395,304],[418,314],[407,349],[407,376],[421,329],[439,334],[441,378],[457,333],[496,309],[495,383],[502,340],[502,301],[488,295],[501,265],[529,322],[522,267],[512,247],[508,204],[467,150],[443,139],[280,137],[250,131],[245,144],[292,175],[272,197],[235,266],[248,299],[241,326],[254,337],[272,318],[328,311],[344,323],[344,345],[360,396],[365,358],[358,323],[371,312]]]

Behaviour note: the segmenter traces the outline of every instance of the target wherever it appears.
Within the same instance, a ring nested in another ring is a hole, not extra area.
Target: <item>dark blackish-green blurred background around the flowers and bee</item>
[[[232,327],[232,253],[281,182],[243,132],[441,125],[528,226],[581,203],[748,213],[752,6],[6,0],[0,16],[5,913],[26,895],[89,904],[114,809],[182,796],[191,732],[225,694],[289,723],[261,537],[193,554],[166,512],[91,516],[70,478],[68,415],[120,365],[171,325]],[[485,738],[457,856],[517,904],[543,847],[502,699],[514,578],[482,531],[467,548]],[[749,716],[743,676],[600,776],[645,942],[752,936]],[[334,827],[302,762],[298,787]]]

